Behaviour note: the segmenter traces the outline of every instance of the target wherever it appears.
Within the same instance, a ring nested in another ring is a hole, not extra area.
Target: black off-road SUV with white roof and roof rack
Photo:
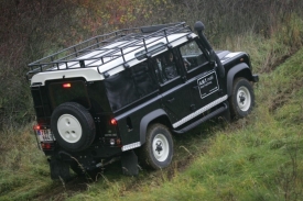
[[[248,54],[214,52],[196,22],[120,30],[30,64],[39,147],[51,177],[120,157],[153,169],[173,158],[172,134],[221,115],[244,118],[255,94]]]

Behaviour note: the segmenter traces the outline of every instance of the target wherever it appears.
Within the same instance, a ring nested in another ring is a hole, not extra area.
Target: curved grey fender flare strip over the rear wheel
[[[147,115],[144,115],[140,122],[140,143],[141,145],[145,143],[145,135],[147,135],[147,130],[148,130],[148,125],[151,121],[153,121],[154,119],[165,115],[167,116],[166,112],[163,109],[158,109],[154,110],[150,113],[148,113]]]

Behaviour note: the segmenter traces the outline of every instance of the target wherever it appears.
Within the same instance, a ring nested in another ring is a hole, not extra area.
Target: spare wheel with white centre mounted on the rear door
[[[76,102],[58,105],[51,118],[51,129],[57,143],[71,152],[79,152],[91,145],[95,123],[90,113]]]

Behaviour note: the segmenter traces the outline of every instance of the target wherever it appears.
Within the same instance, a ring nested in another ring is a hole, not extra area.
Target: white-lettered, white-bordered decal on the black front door
[[[212,71],[197,79],[198,91],[202,99],[219,90],[216,71]]]

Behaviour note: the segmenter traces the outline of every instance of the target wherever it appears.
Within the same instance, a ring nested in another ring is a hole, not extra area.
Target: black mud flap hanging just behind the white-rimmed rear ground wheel
[[[123,152],[121,163],[123,175],[137,176],[139,174],[138,157],[133,150]]]

